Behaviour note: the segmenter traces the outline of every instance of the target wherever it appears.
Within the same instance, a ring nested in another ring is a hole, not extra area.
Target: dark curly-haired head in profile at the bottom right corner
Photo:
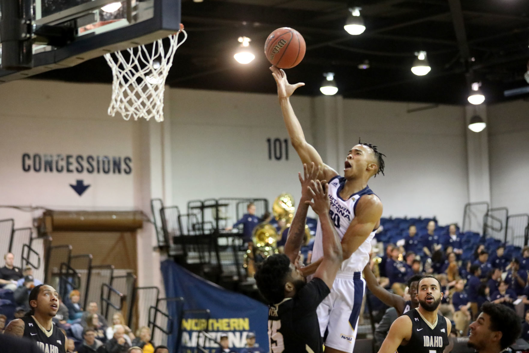
[[[469,326],[467,345],[478,353],[499,353],[512,345],[518,338],[520,319],[503,304],[484,303],[478,319]]]

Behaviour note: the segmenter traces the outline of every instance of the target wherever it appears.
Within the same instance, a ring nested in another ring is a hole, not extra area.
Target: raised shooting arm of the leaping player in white
[[[305,84],[296,83],[295,85],[291,85],[287,81],[287,75],[284,70],[280,70],[275,66],[270,67],[270,70],[272,71],[274,80],[276,80],[279,105],[281,106],[281,112],[283,113],[285,126],[287,127],[288,136],[290,137],[292,146],[299,155],[299,158],[301,158],[302,163],[309,164],[313,162],[316,166],[320,166],[319,180],[331,180],[331,178],[338,175],[338,173],[336,173],[336,171],[330,166],[323,163],[320,154],[318,154],[313,146],[307,143],[305,135],[303,134],[303,129],[294,113],[294,109],[292,109],[292,105],[290,104],[290,96],[298,87]]]

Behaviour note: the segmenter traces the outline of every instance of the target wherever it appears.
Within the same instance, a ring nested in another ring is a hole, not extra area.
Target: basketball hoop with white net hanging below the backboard
[[[178,42],[178,35],[184,38]],[[166,51],[162,39],[152,43],[152,49],[141,45],[127,49],[130,58],[125,58],[121,51],[105,54],[108,65],[112,68],[112,100],[108,115],[120,113],[123,119],[138,118],[163,121],[163,92],[172,59],[176,49],[187,39],[184,25],[169,37],[170,46]]]

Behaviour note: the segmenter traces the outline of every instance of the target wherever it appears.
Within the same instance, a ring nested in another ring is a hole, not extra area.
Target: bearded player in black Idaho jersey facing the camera
[[[419,280],[419,306],[391,324],[379,353],[443,353],[451,350],[448,334],[452,324],[446,317],[437,314],[443,298],[440,288],[439,280],[433,276],[424,276]]]

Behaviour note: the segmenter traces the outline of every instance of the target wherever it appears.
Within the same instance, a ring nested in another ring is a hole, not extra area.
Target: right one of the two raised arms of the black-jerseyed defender
[[[336,277],[336,272],[340,269],[343,261],[342,245],[340,244],[340,237],[336,233],[331,218],[329,217],[329,210],[331,208],[329,184],[322,186],[319,180],[316,182],[313,181],[312,184],[311,193],[313,202],[306,202],[311,205],[314,212],[320,217],[323,245],[322,262],[314,273],[314,277],[321,278],[327,287],[331,288]]]

